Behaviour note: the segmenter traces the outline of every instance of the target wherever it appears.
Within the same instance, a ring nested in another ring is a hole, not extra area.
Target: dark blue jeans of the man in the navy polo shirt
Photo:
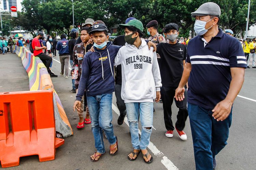
[[[212,117],[211,110],[188,103],[188,116],[196,169],[212,170],[213,158],[227,145],[232,109],[227,119],[217,121]]]

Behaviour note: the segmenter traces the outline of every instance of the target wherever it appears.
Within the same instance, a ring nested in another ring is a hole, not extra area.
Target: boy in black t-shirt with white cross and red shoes
[[[174,126],[171,118],[171,106],[175,96],[175,89],[178,87],[182,77],[187,51],[185,45],[177,43],[176,39],[179,35],[179,27],[177,24],[167,24],[163,29],[163,33],[169,42],[157,45],[157,53],[161,57],[160,74],[162,87],[160,92],[163,102],[165,126],[167,129],[165,135],[167,137],[173,137]],[[185,95],[187,95],[187,90],[185,90]],[[183,101],[174,101],[176,106],[179,108],[175,129],[182,140],[187,140],[187,136],[185,132],[183,132],[185,121],[188,116],[187,100],[185,97]]]

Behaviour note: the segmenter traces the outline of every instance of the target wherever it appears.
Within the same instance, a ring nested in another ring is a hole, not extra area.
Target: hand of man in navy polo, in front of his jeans
[[[227,99],[219,102],[212,110],[212,117],[214,117],[214,119],[217,119],[217,121],[225,120],[231,112],[232,104],[233,103]]]

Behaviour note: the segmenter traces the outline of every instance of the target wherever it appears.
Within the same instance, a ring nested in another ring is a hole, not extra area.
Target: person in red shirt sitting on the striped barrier
[[[55,75],[50,69],[49,66],[52,63],[52,57],[48,56],[47,54],[43,53],[43,49],[47,49],[47,47],[43,46],[41,47],[39,39],[42,39],[44,36],[44,33],[39,31],[37,36],[34,37],[32,40],[32,48],[33,48],[33,54],[35,57],[39,57],[40,60],[44,63],[45,67],[47,68],[48,73],[51,77],[58,77],[58,75]]]

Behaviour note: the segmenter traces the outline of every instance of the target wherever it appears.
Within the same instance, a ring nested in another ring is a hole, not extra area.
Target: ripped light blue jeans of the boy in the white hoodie
[[[153,102],[125,103],[134,149],[146,149],[150,142],[153,125]],[[142,125],[141,140],[139,138],[138,118]],[[146,129],[150,128],[150,129]]]

